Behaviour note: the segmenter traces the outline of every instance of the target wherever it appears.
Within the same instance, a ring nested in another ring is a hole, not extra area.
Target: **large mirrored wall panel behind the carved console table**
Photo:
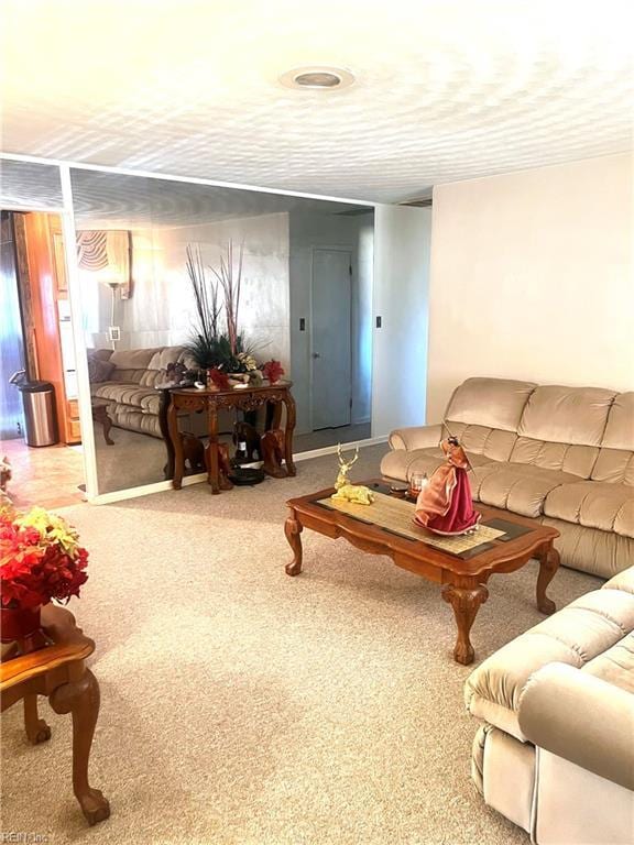
[[[371,207],[83,169],[72,185],[100,494],[171,476],[178,385],[292,382],[295,453],[370,436]],[[228,459],[273,417],[221,413]],[[177,421],[200,472],[207,416]]]

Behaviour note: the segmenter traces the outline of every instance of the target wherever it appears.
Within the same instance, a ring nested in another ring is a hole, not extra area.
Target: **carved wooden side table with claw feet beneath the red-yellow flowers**
[[[51,738],[51,728],[37,715],[37,695],[48,696],[55,713],[73,715],[73,791],[88,823],[96,824],[108,819],[110,804],[88,782],[99,684],[84,660],[95,643],[77,627],[69,611],[52,604],[42,608],[42,627],[51,645],[18,657],[9,651],[0,663],[2,712],[23,700],[26,738],[33,745]]]

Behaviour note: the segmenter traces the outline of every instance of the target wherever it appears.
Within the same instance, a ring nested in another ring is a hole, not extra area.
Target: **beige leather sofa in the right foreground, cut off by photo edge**
[[[468,678],[472,776],[538,845],[634,842],[634,567]]]

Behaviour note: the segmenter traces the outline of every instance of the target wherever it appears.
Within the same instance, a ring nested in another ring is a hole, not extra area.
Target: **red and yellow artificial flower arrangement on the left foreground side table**
[[[28,514],[0,511],[1,605],[35,610],[50,601],[67,602],[88,580],[88,552],[77,531],[42,507]]]

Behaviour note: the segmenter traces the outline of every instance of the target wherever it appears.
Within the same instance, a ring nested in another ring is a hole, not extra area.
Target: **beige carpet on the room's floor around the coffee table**
[[[363,450],[357,478],[383,447]],[[332,457],[298,476],[212,497],[204,485],[66,511],[91,550],[73,610],[98,643],[95,786],[112,816],[85,826],[70,789],[69,720],[44,746],[3,726],[2,830],[50,843],[510,845],[469,776],[469,669],[451,659],[438,588],[304,533],[284,574],[286,497],[326,486]],[[473,629],[482,659],[539,621],[536,567],[490,582]],[[562,604],[597,581],[561,570]]]

